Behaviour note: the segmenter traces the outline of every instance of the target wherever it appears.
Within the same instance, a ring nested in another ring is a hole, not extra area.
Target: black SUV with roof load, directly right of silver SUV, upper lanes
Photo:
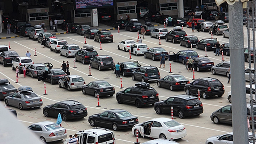
[[[182,27],[175,26],[173,30],[169,31],[165,35],[165,41],[168,42],[169,40],[172,40],[172,43],[176,43],[177,41],[180,41],[184,36],[187,36],[187,33],[182,30]]]

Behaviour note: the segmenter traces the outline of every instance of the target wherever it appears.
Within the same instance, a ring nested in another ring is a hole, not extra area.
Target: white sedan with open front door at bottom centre
[[[156,118],[143,123],[138,123],[132,127],[134,135],[136,135],[137,130],[139,136],[155,139],[174,140],[184,138],[187,134],[185,126],[170,118]]]

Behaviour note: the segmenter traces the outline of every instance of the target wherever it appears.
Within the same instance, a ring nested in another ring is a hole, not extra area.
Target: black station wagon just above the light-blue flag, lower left
[[[61,114],[63,121],[69,119],[84,118],[88,115],[87,108],[75,100],[60,101],[52,105],[44,106],[43,114],[45,117],[58,117]]]

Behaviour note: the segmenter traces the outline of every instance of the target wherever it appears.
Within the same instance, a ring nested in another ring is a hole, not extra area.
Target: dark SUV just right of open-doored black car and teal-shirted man
[[[132,80],[141,80],[142,82],[156,81],[160,79],[160,73],[155,66],[141,66],[132,72]]]

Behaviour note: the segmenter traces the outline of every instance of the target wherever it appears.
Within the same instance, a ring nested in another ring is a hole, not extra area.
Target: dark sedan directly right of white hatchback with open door
[[[84,95],[94,95],[96,98],[98,94],[99,97],[107,95],[113,96],[115,94],[115,87],[111,86],[111,84],[105,80],[95,80],[83,86],[82,93]]]

